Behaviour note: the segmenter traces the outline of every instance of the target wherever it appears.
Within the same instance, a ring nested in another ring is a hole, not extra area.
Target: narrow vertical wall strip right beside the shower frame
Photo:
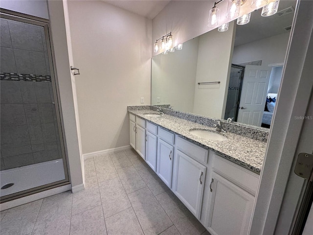
[[[63,1],[49,0],[49,18],[52,31],[55,55],[55,71],[58,78],[61,108],[67,144],[68,164],[72,187],[83,184],[81,154],[71,74],[69,70],[67,33],[64,17]]]

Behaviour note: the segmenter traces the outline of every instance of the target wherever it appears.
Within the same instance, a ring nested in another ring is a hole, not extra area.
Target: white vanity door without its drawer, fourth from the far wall
[[[171,188],[174,147],[161,139],[157,144],[156,174]]]

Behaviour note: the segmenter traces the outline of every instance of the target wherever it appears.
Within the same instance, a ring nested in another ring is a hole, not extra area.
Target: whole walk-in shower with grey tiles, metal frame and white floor
[[[28,18],[28,19],[27,19]],[[1,202],[67,184],[49,23],[1,10]]]

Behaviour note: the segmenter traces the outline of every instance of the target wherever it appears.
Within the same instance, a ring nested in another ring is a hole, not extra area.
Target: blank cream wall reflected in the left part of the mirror
[[[175,110],[193,112],[198,47],[199,37],[184,43],[182,50],[152,58],[151,104],[170,104]]]

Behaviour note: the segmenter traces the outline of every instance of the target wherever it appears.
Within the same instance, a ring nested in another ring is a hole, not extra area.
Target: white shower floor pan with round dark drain
[[[26,165],[0,172],[0,188],[7,184],[14,185],[0,189],[0,196],[36,188],[65,179],[63,160],[57,159],[44,163]]]

